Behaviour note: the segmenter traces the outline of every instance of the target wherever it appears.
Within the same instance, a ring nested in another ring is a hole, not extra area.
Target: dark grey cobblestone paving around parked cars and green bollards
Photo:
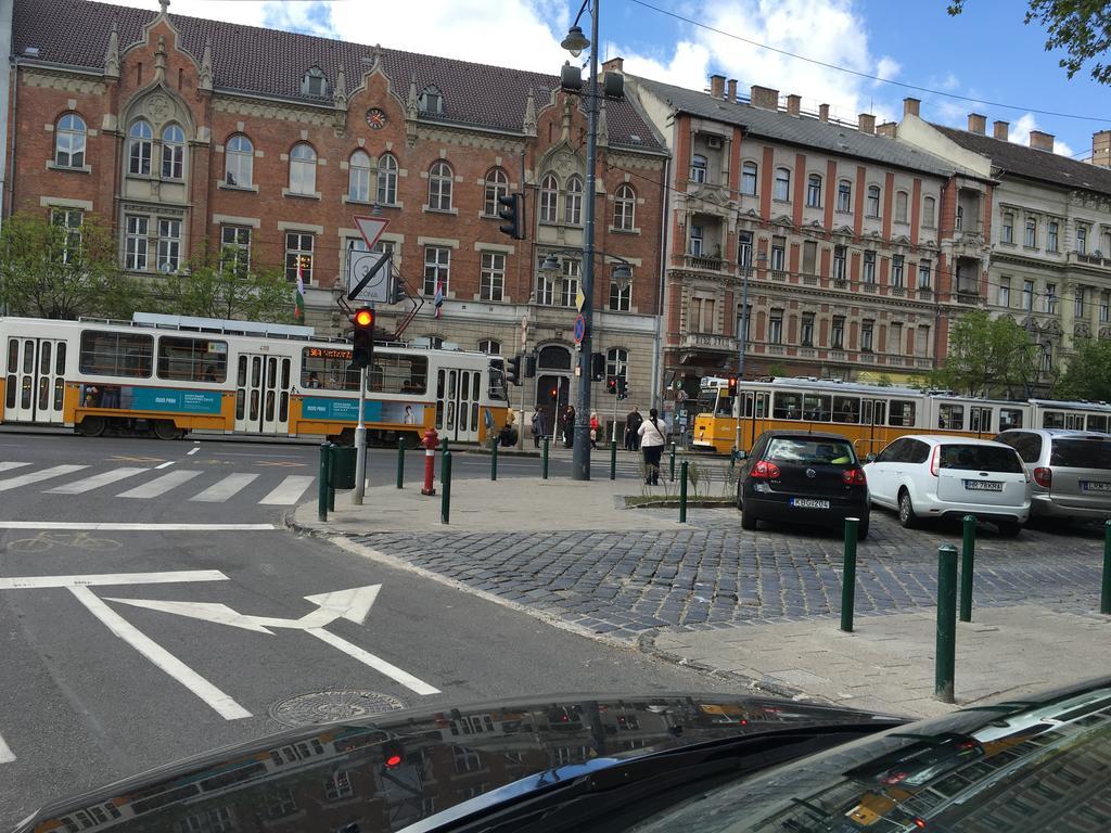
[[[674,510],[630,510],[663,513]],[[903,530],[871,515],[860,542],[858,614],[910,612],[937,598],[937,550],[958,524]],[[635,640],[653,629],[792,621],[840,611],[843,542],[835,532],[744,532],[731,509],[692,510],[687,529],[604,533],[428,532],[350,535],[359,543],[594,633]],[[552,513],[553,525],[573,525]],[[1018,539],[978,530],[973,599],[1098,608],[1102,530],[1028,528]]]

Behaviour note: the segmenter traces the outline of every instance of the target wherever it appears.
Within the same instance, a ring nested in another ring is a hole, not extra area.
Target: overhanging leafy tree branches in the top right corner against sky
[[[1111,83],[1111,64],[1102,56],[1111,47],[1111,3],[1103,0],[1029,0],[1025,23],[1045,29],[1045,51],[1063,49],[1059,61],[1069,78],[1087,61],[1093,61],[1091,76],[1101,84]],[[950,0],[949,13],[964,11],[964,0]]]

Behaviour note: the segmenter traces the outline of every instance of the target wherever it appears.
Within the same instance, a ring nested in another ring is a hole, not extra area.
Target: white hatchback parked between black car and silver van
[[[930,434],[901,436],[867,465],[872,503],[899,512],[903,526],[967,514],[1017,535],[1030,516],[1030,482],[1010,445]]]

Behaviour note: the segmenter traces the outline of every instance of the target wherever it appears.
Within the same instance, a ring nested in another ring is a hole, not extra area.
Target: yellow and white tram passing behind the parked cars
[[[762,431],[800,424],[832,430],[853,441],[861,456],[903,434],[952,433],[991,438],[1012,428],[1070,428],[1105,432],[1111,405],[1102,402],[1024,402],[929,393],[809,378],[735,382],[702,379],[694,445],[728,454],[752,448]]]

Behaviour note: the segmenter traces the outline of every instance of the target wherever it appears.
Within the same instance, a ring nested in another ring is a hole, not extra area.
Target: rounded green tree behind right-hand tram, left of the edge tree
[[[970,395],[1022,394],[1037,375],[1035,351],[1011,319],[971,310],[950,329],[945,363],[931,381]]]

